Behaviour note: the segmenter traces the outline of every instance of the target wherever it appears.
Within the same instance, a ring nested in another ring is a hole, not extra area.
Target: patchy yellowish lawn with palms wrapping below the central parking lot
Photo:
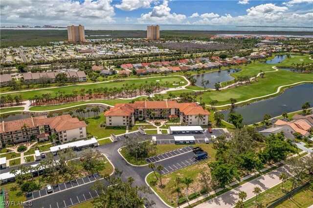
[[[159,145],[159,146],[163,146],[163,145]],[[164,146],[169,146],[169,145],[164,145]],[[165,174],[164,176],[162,176],[162,183],[163,185],[165,185],[165,187],[159,187],[158,185],[160,184],[151,186],[151,182],[156,181],[156,176],[153,173],[148,175],[147,177],[147,182],[168,205],[171,205],[171,201],[173,200],[175,204],[172,206],[177,207],[177,204],[176,204],[177,193],[173,192],[175,188],[174,181],[175,181],[176,176],[180,176],[182,179],[185,177],[191,177],[192,179],[194,179],[194,183],[191,184],[189,187],[189,191],[188,191],[189,195],[195,191],[200,191],[201,185],[198,183],[199,180],[197,180],[197,178],[199,178],[201,171],[209,170],[209,166],[207,165],[207,163],[212,160],[213,161],[215,160],[216,150],[212,148],[213,145],[197,144],[194,146],[200,146],[203,150],[205,150],[208,153],[209,157],[211,158],[209,160]],[[182,196],[185,196],[185,192],[186,192],[185,186],[180,185],[180,187],[182,187],[181,189],[181,192],[183,194]]]

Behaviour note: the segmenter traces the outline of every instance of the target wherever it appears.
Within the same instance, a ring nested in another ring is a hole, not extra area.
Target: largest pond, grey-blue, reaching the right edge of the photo
[[[221,112],[224,114],[225,121],[227,121],[228,114],[232,111],[243,116],[244,124],[253,124],[263,121],[265,114],[275,117],[280,116],[283,112],[289,113],[301,110],[302,104],[307,101],[311,105],[313,104],[313,84],[302,84],[288,88],[277,97]]]

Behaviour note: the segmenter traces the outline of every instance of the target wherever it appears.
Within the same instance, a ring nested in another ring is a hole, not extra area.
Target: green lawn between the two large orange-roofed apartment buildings
[[[118,135],[126,132],[126,126],[120,126],[120,129],[114,129],[116,126],[100,127],[102,122],[105,123],[103,113],[99,114],[96,118],[90,117],[87,121],[89,121],[89,124],[87,125],[87,132],[98,139],[110,137],[111,134]]]

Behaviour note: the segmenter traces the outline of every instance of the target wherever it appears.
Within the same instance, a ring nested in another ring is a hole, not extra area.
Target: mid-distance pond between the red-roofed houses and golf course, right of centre
[[[215,88],[215,83],[223,83],[226,81],[233,80],[234,78],[231,77],[229,74],[236,73],[241,71],[241,69],[229,69],[229,70],[219,70],[219,71],[213,71],[203,74],[196,74],[193,77],[197,80],[196,85],[201,86],[202,80],[209,80],[210,83],[206,86],[206,88]]]

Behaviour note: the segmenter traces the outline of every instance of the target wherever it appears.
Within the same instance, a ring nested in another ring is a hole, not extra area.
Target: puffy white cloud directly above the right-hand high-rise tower
[[[148,14],[141,14],[137,20],[139,23],[175,24],[185,19],[185,15],[171,13],[168,1],[164,0],[162,4],[154,6]]]

